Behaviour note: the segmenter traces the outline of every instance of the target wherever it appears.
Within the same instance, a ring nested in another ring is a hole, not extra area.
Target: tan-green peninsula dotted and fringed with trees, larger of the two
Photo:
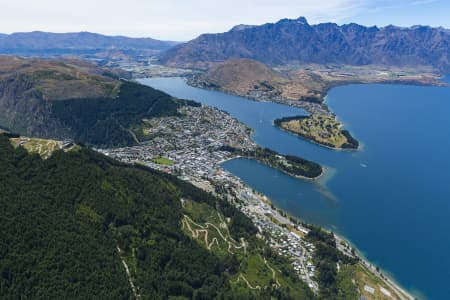
[[[312,114],[276,119],[275,125],[312,140],[318,144],[335,149],[358,149],[359,142],[333,116]]]

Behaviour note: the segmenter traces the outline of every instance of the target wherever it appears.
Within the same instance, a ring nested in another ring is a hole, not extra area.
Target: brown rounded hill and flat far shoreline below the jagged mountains
[[[285,104],[323,103],[330,88],[351,83],[444,85],[427,68],[386,68],[377,65],[283,65],[274,68],[248,58],[213,64],[189,79],[194,86]],[[292,102],[294,101],[294,102]],[[299,102],[297,102],[299,101]]]

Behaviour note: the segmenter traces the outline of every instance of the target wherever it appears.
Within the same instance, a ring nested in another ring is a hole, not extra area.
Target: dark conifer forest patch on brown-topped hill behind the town
[[[122,82],[115,99],[69,99],[51,104],[52,116],[73,139],[100,147],[134,145],[130,128],[142,119],[177,115],[181,105],[200,105],[130,81]]]

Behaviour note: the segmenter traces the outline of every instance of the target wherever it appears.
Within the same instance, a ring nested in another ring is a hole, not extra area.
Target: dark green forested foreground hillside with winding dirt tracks
[[[79,147],[42,160],[0,135],[0,182],[2,299],[313,298],[247,217],[170,175]]]

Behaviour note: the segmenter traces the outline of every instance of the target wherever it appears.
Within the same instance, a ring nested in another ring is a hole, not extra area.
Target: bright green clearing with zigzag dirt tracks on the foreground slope
[[[277,299],[314,297],[294,273],[288,259],[275,255],[261,241],[236,239],[232,233],[237,224],[232,219],[205,203],[190,200],[183,201],[183,211],[182,228],[188,236],[218,257],[238,262],[239,268],[230,277],[231,288],[235,293],[244,298],[255,295],[263,298],[274,296]],[[239,230],[245,228],[242,225],[238,224]]]

